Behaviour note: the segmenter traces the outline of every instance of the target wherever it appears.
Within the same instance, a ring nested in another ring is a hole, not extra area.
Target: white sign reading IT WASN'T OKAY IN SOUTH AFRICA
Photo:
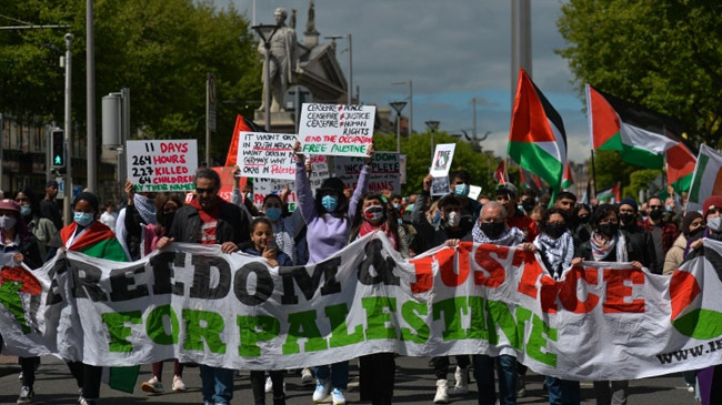
[[[237,162],[241,175],[293,180],[295,139],[294,134],[289,133],[240,132]]]

